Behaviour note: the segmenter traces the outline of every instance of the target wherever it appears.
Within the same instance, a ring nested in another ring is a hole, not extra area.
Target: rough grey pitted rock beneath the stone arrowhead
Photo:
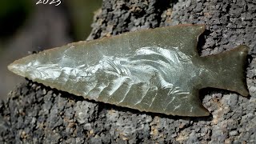
[[[200,54],[218,54],[239,44],[250,46],[250,96],[202,90],[203,105],[212,115],[186,118],[88,101],[28,81],[10,92],[6,102],[0,102],[0,142],[255,143],[255,11],[254,0],[104,0],[88,39],[158,26],[205,23]]]

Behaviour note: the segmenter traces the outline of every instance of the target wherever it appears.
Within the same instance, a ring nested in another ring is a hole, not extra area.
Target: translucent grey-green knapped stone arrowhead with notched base
[[[204,25],[168,26],[74,42],[19,59],[15,74],[70,94],[141,111],[206,116],[198,90],[248,95],[247,46],[200,57]]]

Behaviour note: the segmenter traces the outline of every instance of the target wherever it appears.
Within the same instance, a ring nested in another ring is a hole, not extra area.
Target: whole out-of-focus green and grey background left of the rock
[[[59,6],[38,0],[0,1],[0,99],[24,81],[7,70],[15,59],[29,51],[45,50],[86,40],[94,11],[102,0],[61,0]],[[46,1],[45,1],[46,2]]]

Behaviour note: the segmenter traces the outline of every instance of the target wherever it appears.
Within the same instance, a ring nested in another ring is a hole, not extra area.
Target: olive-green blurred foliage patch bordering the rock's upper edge
[[[69,0],[66,5],[71,14],[74,40],[86,40],[90,34],[94,11],[102,6],[102,0]]]

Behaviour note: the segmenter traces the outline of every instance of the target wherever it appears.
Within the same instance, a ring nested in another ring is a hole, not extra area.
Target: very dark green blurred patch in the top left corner
[[[33,8],[34,3],[31,0],[1,0],[0,38],[5,39],[18,30]]]

